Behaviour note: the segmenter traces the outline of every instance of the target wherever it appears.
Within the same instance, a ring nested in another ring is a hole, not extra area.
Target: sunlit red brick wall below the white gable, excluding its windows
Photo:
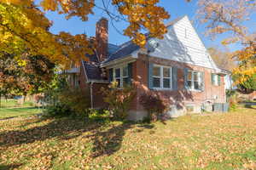
[[[225,91],[224,91],[224,77],[221,77],[221,85],[212,85],[211,80],[211,69],[187,65],[177,61],[172,61],[168,59],[160,59],[155,57],[149,57],[145,54],[139,54],[136,62],[133,63],[133,75],[135,75],[134,80],[139,84],[137,89],[137,98],[133,101],[133,110],[143,110],[142,105],[139,105],[140,95],[148,90],[148,62],[155,63],[158,65],[166,66],[176,66],[177,67],[177,81],[178,90],[160,90],[157,91],[160,95],[165,97],[170,101],[170,104],[175,104],[177,106],[183,107],[183,105],[201,105],[202,102],[208,100],[213,100],[213,95],[217,95],[218,99],[214,102],[224,103],[225,102]],[[189,68],[195,71],[203,71],[205,73],[205,90],[202,92],[188,91],[184,89],[184,78],[183,69]]]

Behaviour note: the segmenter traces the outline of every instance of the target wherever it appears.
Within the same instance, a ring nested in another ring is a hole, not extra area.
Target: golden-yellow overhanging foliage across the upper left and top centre
[[[143,46],[146,39],[144,30],[148,30],[151,37],[161,38],[166,33],[163,20],[168,19],[169,14],[157,3],[159,0],[113,0],[112,4],[119,14],[110,13],[106,8],[102,10],[110,18],[130,23],[124,35]],[[43,8],[43,12],[38,7]],[[78,62],[84,54],[92,53],[90,41],[84,34],[50,33],[52,23],[45,17],[44,11],[65,14],[67,20],[78,16],[86,21],[89,14],[94,14],[93,8],[96,7],[94,0],[41,0],[37,5],[33,0],[0,0],[0,55],[15,54],[17,60],[22,59],[24,53],[43,55],[63,67],[69,66],[70,60]]]

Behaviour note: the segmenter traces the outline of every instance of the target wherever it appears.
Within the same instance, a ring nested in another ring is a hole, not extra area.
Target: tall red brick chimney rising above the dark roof
[[[96,52],[100,62],[108,57],[108,20],[102,18],[96,23]]]

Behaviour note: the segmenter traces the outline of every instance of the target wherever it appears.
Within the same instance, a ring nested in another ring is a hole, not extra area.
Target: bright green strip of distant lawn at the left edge
[[[18,116],[32,116],[41,112],[42,112],[41,109],[37,109],[34,107],[12,108],[12,109],[0,108],[0,119],[12,118],[12,117],[18,117]]]

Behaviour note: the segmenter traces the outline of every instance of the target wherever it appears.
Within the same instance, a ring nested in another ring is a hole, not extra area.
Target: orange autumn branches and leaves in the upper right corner
[[[256,13],[255,0],[200,0],[198,18],[207,27],[207,35],[214,38],[219,34],[224,45],[240,43],[243,48],[233,56],[239,65],[233,70],[239,75],[236,84],[246,82],[256,73],[256,35],[248,31],[245,21]]]

